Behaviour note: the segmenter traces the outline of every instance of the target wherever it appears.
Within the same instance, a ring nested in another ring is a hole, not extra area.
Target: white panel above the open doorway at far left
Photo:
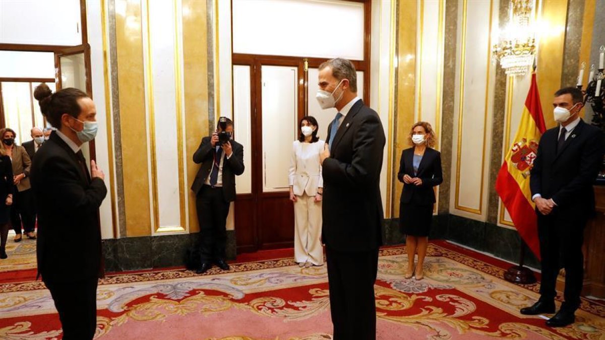
[[[0,43],[82,44],[80,1],[1,0]]]

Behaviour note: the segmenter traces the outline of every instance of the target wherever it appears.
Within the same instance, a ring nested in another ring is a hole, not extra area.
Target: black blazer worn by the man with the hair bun
[[[102,276],[103,180],[91,180],[73,150],[53,133],[36,153],[31,187],[38,213],[38,273],[58,282]]]

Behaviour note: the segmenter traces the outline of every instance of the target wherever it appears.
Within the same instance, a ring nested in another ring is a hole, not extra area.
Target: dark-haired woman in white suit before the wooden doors
[[[292,147],[289,183],[294,202],[294,258],[301,267],[321,266],[321,198],[324,191],[319,154],[325,142],[317,137],[318,124],[307,116],[299,123],[300,134]]]

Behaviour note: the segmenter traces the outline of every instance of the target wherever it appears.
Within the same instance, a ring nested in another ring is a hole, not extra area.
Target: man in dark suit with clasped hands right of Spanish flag
[[[575,322],[584,276],[583,230],[594,214],[592,189],[603,162],[603,131],[580,118],[583,106],[578,88],[562,88],[552,102],[560,123],[540,138],[531,169],[532,200],[538,215],[542,281],[540,299],[521,310],[525,315],[555,312],[555,283],[565,268],[565,301],[546,324],[563,327]]]

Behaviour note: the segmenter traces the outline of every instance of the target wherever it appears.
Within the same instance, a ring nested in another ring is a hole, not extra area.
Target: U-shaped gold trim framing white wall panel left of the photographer
[[[186,216],[185,216],[185,192],[183,192],[184,180],[183,180],[183,113],[181,108],[181,72],[180,72],[180,50],[178,50],[178,3],[174,0],[174,20],[175,20],[175,42],[174,42],[174,53],[175,53],[175,82],[177,87],[175,89],[175,101],[176,101],[176,116],[177,116],[177,149],[178,149],[178,191],[180,196],[180,221],[181,226],[160,226],[160,206],[159,206],[159,193],[157,185],[157,158],[156,158],[156,141],[155,141],[155,108],[154,108],[154,92],[153,92],[153,74],[152,74],[152,57],[151,57],[151,26],[149,25],[149,0],[145,0],[146,10],[146,28],[147,28],[147,105],[149,113],[149,140],[150,143],[150,154],[151,154],[151,191],[152,191],[152,211],[154,225],[152,229],[154,233],[165,233],[165,232],[184,232],[186,231]]]

